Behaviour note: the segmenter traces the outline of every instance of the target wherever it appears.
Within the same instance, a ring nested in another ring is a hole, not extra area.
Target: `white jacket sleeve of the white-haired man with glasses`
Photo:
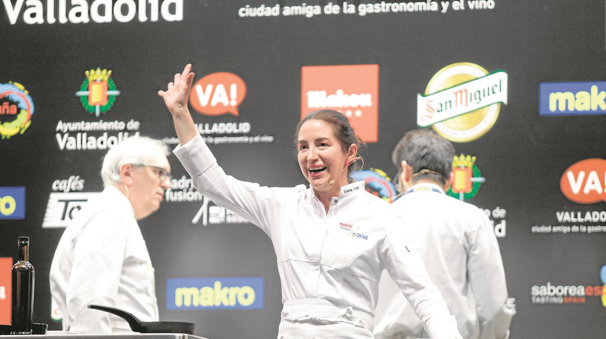
[[[70,331],[110,334],[109,314],[88,304],[115,306],[127,243],[128,224],[115,210],[104,210],[87,223],[74,247],[67,284]]]

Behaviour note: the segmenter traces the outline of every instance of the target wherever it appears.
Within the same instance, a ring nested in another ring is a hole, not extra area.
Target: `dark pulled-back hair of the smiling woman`
[[[297,144],[297,138],[299,136],[299,130],[301,130],[301,126],[303,126],[303,124],[306,121],[313,120],[313,119],[324,121],[326,123],[331,124],[331,126],[333,126],[333,130],[335,131],[335,136],[337,137],[337,139],[339,139],[339,142],[341,143],[341,147],[343,147],[343,150],[345,152],[347,152],[347,150],[349,149],[349,146],[351,144],[356,144],[356,146],[358,146],[358,153],[357,153],[356,157],[362,156],[362,150],[364,150],[366,143],[364,143],[362,138],[360,138],[358,135],[356,135],[356,133],[353,131],[353,128],[351,127],[351,124],[349,123],[349,119],[347,119],[347,116],[343,115],[343,113],[338,112],[336,110],[328,110],[328,109],[315,110],[315,111],[309,113],[308,115],[306,115],[305,118],[303,118],[299,122],[299,124],[297,125],[297,132],[295,135],[295,148],[296,148],[296,144]],[[356,161],[355,163],[351,164],[350,173],[354,172],[356,170],[359,170],[360,167],[361,167],[361,164]]]

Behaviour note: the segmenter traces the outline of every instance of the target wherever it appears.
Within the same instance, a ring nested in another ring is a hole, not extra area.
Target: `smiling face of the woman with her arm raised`
[[[321,195],[338,196],[341,186],[347,184],[345,167],[355,157],[357,146],[352,144],[345,151],[330,123],[310,119],[299,129],[297,150],[301,172],[310,186]],[[335,180],[335,184],[330,185],[331,180]]]

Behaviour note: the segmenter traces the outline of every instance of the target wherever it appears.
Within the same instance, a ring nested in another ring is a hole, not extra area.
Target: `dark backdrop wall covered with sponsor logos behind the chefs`
[[[44,272],[70,220],[102,191],[110,147],[135,135],[178,144],[156,93],[191,62],[196,129],[242,181],[306,184],[293,140],[313,110],[350,119],[367,142],[352,176],[387,201],[397,195],[391,151],[405,132],[453,142],[447,193],[493,223],[518,310],[510,338],[599,337],[606,69],[604,50],[587,41],[605,37],[566,23],[603,23],[605,10],[564,0],[2,0],[0,323],[10,321],[2,272],[16,238],[32,238]],[[161,320],[194,322],[208,338],[275,338],[282,303],[270,240],[169,160],[165,201],[139,221]],[[35,319],[58,330],[48,276],[36,278]]]

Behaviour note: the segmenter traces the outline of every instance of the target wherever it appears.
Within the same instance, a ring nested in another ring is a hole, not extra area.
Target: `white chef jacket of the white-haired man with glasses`
[[[70,221],[50,267],[50,292],[63,329],[82,334],[132,332],[122,318],[88,304],[158,320],[154,270],[130,201],[105,187]]]

